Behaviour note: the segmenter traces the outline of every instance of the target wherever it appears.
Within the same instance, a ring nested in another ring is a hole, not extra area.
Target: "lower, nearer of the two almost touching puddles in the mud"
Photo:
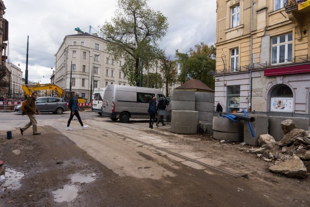
[[[54,201],[56,202],[70,202],[78,196],[78,187],[75,185],[65,185],[63,189],[58,189],[52,192],[54,194]]]

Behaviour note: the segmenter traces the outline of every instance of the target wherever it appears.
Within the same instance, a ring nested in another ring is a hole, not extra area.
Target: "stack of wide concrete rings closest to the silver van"
[[[172,94],[171,132],[196,134],[198,111],[195,111],[195,91],[174,90]]]

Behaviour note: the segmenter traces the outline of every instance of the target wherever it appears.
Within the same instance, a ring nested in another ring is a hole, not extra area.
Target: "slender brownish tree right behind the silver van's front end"
[[[176,60],[171,60],[171,55],[167,55],[165,52],[161,53],[160,57],[160,71],[163,74],[164,83],[166,86],[166,96],[171,96],[172,91],[169,91],[169,86],[172,86],[177,82],[178,77],[178,65]]]

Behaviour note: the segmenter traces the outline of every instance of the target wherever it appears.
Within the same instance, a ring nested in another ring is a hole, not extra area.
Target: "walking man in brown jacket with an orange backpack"
[[[26,131],[26,129],[31,127],[31,125],[32,125],[33,135],[41,134],[40,132],[37,132],[37,121],[35,119],[35,113],[38,113],[39,115],[41,114],[41,112],[35,106],[35,100],[37,96],[38,96],[38,93],[33,92],[26,101],[25,109],[26,109],[26,114],[29,117],[30,121],[25,126],[20,128],[21,135],[23,135],[24,131]]]

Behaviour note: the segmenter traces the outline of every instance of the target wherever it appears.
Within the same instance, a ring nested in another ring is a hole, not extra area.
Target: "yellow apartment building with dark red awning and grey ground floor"
[[[310,0],[217,0],[215,104],[309,114],[309,32]]]

